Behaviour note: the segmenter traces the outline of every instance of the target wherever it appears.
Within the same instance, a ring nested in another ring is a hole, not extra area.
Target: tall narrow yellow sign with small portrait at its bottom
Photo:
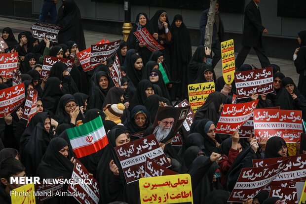
[[[234,80],[235,73],[235,52],[234,40],[221,42],[222,73],[227,84]]]

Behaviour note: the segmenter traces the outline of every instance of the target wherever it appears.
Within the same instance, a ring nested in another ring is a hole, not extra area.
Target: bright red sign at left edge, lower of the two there
[[[0,118],[4,117],[4,113],[12,113],[19,108],[24,99],[24,83],[0,90]]]

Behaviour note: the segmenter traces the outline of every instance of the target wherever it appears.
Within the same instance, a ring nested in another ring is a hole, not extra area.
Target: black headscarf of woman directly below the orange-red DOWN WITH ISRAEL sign
[[[265,159],[282,157],[277,152],[281,149],[283,145],[287,147],[287,144],[283,138],[281,137],[269,138],[265,150]],[[289,156],[288,150],[287,150],[287,156]]]

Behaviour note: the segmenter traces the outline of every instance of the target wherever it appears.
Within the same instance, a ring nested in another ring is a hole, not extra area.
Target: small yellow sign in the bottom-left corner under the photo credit
[[[27,184],[11,191],[12,204],[36,204],[34,184]]]

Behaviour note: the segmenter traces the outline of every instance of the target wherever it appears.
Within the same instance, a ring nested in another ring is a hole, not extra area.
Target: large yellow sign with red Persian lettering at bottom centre
[[[139,189],[141,204],[193,204],[189,174],[141,178]]]

